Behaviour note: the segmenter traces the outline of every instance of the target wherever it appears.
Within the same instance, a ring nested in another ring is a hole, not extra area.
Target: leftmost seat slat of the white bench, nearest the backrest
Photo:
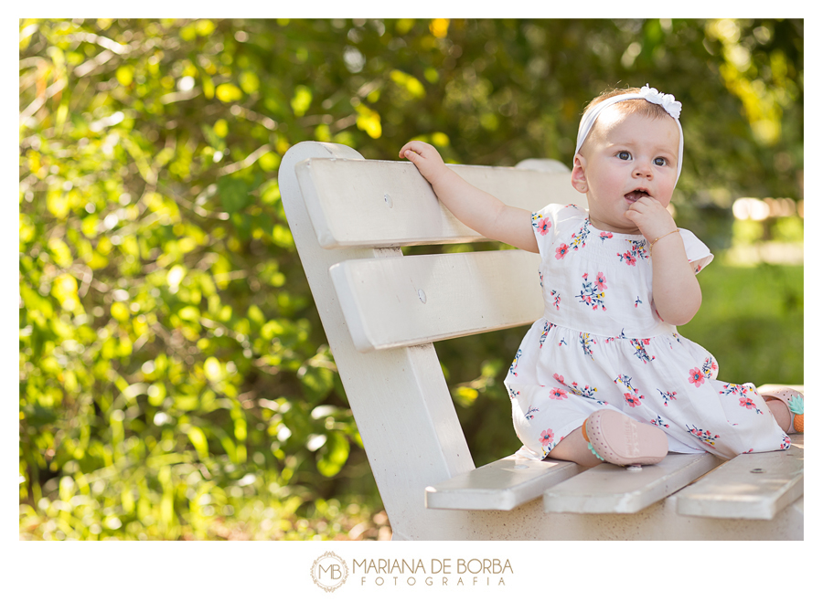
[[[581,471],[583,468],[570,461],[536,461],[511,455],[426,487],[426,507],[510,511]]]

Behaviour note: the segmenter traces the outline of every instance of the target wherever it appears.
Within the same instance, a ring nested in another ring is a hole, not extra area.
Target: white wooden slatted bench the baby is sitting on
[[[451,168],[513,206],[585,203],[561,163]],[[515,454],[476,469],[433,342],[540,318],[540,258],[520,250],[404,257],[401,247],[484,239],[438,202],[412,163],[301,142],[278,178],[393,538],[803,538],[802,435],[789,451],[722,464],[669,454],[639,471],[586,470]]]

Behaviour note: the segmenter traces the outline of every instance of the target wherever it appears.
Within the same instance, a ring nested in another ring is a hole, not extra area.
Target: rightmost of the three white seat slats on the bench
[[[739,455],[681,490],[678,513],[771,520],[803,495],[803,435],[791,438],[786,451]]]

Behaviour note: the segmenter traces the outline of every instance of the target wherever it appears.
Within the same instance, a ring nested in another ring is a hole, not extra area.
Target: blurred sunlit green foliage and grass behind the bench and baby
[[[802,383],[803,26],[20,21],[20,538],[390,538],[283,214],[305,140],[570,164],[588,100],[672,93],[676,218],[716,255],[680,332]],[[437,344],[478,466],[519,447],[524,332]]]

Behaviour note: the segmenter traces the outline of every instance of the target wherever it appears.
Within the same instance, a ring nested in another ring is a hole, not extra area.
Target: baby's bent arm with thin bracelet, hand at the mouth
[[[686,248],[677,225],[665,206],[647,196],[632,204],[625,215],[635,222],[650,242],[652,258],[652,296],[660,318],[672,325],[689,323],[700,309],[700,283],[686,257]]]

